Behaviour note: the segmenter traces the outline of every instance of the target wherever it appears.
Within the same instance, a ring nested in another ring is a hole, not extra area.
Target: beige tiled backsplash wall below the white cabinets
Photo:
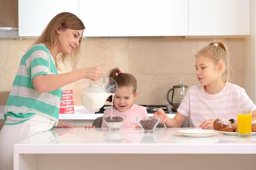
[[[29,40],[0,40],[0,105],[4,105],[11,89],[20,58],[33,44]],[[118,67],[135,75],[138,80],[137,104],[168,104],[166,93],[182,82],[197,84],[194,55],[212,39],[183,37],[130,37],[83,39],[78,68],[99,66],[105,73]],[[244,85],[244,39],[225,39],[230,50],[232,83]],[[61,65],[59,73],[69,71]],[[74,89],[75,105],[82,105],[81,93],[88,80],[66,85]]]

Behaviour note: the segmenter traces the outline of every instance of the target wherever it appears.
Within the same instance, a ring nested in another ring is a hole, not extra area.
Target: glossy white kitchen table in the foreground
[[[255,170],[256,136],[176,135],[179,128],[55,128],[14,145],[15,170]]]

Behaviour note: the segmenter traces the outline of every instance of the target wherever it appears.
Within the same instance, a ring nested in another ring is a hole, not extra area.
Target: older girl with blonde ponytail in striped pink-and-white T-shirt
[[[191,119],[191,127],[213,129],[216,118],[236,119],[237,109],[249,107],[256,119],[256,106],[245,90],[229,83],[230,61],[226,45],[215,41],[202,48],[196,55],[196,73],[200,85],[189,88],[174,119],[159,109],[153,117],[161,117],[167,127],[180,127]]]

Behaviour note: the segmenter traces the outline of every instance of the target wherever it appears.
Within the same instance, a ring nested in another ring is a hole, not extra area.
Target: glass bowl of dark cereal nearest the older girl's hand
[[[155,131],[160,117],[157,118],[149,118],[149,117],[136,117],[136,120],[142,129],[143,133],[152,133]]]

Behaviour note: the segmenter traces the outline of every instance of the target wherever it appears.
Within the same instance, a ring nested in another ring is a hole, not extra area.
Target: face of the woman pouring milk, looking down
[[[70,54],[77,46],[79,46],[83,30],[72,30],[62,27],[57,31],[57,33],[59,52]]]

